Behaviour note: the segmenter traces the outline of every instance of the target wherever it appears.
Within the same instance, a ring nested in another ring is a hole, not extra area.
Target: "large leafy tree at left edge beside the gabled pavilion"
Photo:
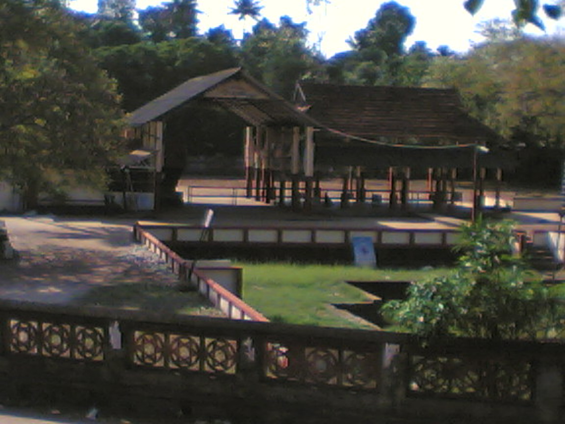
[[[0,19],[1,178],[29,209],[71,180],[101,187],[121,153],[114,83],[56,3],[5,0]]]

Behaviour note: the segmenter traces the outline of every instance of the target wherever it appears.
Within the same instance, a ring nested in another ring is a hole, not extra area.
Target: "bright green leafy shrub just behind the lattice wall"
[[[514,224],[477,220],[461,229],[452,275],[408,288],[384,314],[404,330],[426,337],[535,339],[555,330],[557,304],[541,284],[525,282],[523,259],[512,253]]]

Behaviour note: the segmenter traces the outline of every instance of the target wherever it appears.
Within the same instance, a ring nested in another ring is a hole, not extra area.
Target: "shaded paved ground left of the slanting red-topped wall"
[[[144,298],[144,289],[155,295],[154,288],[172,288],[177,279],[153,253],[133,243],[134,219],[0,219],[19,254],[16,261],[0,261],[1,298],[163,310],[201,305],[202,313],[211,310],[195,293],[179,294],[162,305],[150,302],[154,296]]]

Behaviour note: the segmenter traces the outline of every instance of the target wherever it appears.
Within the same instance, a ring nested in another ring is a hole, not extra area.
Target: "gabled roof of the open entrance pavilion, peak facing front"
[[[314,120],[291,103],[247,75],[241,68],[195,77],[134,110],[128,116],[131,126],[162,118],[187,102],[207,99],[258,125],[273,123],[314,125]]]

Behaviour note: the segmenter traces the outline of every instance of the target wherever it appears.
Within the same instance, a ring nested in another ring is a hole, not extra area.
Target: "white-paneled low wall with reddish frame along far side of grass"
[[[187,258],[230,257],[238,260],[351,263],[354,237],[373,241],[378,266],[450,265],[457,230],[327,227],[214,227],[139,224],[175,252]]]

